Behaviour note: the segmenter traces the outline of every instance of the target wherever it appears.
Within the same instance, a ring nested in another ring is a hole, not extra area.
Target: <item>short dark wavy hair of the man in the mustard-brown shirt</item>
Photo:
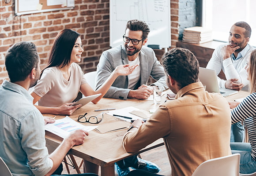
[[[162,56],[162,65],[166,74],[177,81],[180,88],[198,81],[199,63],[188,49],[170,49]]]

